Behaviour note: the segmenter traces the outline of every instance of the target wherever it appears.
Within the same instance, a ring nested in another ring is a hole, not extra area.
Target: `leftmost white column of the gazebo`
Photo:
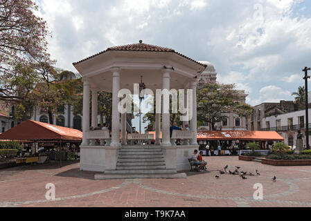
[[[87,140],[86,133],[89,131],[89,81],[83,79],[83,120],[82,120],[82,144],[81,146],[89,146],[89,140]]]

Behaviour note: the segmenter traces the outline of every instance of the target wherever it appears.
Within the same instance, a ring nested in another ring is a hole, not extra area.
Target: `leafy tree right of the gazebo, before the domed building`
[[[253,108],[238,102],[240,92],[234,84],[203,84],[197,88],[197,119],[208,122],[215,131],[215,123],[226,119],[225,113],[236,113],[240,117],[251,115]]]

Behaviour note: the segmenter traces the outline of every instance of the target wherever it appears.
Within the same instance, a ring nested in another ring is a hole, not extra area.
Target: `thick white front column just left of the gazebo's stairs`
[[[121,146],[120,144],[120,113],[118,112],[118,91],[120,90],[120,69],[112,70],[112,144],[110,146]]]

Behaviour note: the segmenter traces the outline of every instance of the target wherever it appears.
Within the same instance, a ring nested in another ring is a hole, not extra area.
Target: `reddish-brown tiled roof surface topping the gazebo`
[[[107,50],[104,50],[102,52],[99,52],[98,54],[96,55],[93,55],[91,57],[87,57],[86,59],[83,59],[81,61],[78,61],[78,62],[75,62],[73,63],[73,65],[75,64],[79,64],[81,63],[82,61],[86,61],[88,59],[91,59],[93,57],[96,57],[97,55],[101,55],[107,51],[111,51],[111,50],[117,50],[117,51],[148,51],[148,52],[172,52],[172,53],[175,53],[177,55],[181,55],[182,57],[185,57],[186,59],[189,59],[190,61],[193,61],[197,64],[200,64],[204,67],[206,67],[205,64],[201,64],[197,61],[195,61],[194,59],[190,59],[190,57],[186,57],[185,55],[182,55],[181,53],[179,52],[176,52],[175,50],[171,49],[171,48],[164,48],[164,47],[161,47],[161,46],[153,46],[151,44],[144,44],[144,43],[139,43],[139,44],[127,44],[125,46],[114,46],[114,47],[111,47],[111,48],[108,48]]]

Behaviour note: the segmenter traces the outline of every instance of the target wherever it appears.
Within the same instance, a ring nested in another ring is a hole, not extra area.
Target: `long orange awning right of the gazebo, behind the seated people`
[[[198,131],[197,140],[283,141],[276,131]]]

